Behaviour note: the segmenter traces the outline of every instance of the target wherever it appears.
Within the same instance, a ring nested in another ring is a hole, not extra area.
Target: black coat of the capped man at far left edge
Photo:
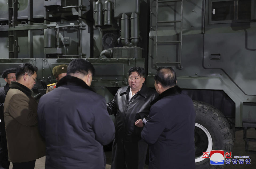
[[[6,83],[4,87],[0,88],[0,120],[2,121],[0,122],[0,136],[5,136],[5,120],[3,118],[3,105],[5,103],[5,97],[9,89],[10,87],[8,83]]]

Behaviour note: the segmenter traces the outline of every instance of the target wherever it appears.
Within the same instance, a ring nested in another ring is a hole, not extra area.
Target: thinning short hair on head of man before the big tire
[[[155,75],[155,82],[163,87],[173,87],[176,85],[176,73],[171,67],[159,67]]]

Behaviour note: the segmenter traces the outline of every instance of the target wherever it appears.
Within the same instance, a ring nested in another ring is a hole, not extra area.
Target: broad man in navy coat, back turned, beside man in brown
[[[105,169],[103,145],[113,141],[115,127],[105,98],[90,87],[94,72],[89,61],[74,59],[57,88],[40,98],[45,168]]]

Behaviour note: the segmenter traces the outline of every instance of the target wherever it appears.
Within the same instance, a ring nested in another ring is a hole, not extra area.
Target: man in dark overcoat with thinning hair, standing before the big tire
[[[152,102],[142,139],[149,146],[150,169],[195,168],[195,110],[191,98],[176,85],[171,67],[159,67]]]

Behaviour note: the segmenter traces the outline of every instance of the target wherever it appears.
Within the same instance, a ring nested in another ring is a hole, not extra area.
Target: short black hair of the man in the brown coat
[[[31,65],[31,64],[21,64],[17,67],[17,71],[15,73],[15,76],[17,80],[23,75],[23,74],[29,74],[33,75],[38,70],[37,67]]]

